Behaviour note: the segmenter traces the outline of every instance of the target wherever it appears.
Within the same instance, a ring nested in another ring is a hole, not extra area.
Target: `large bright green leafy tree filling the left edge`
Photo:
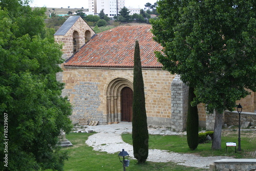
[[[58,136],[71,131],[72,109],[56,80],[61,46],[45,27],[46,8],[32,11],[23,2],[0,1],[0,134],[9,139],[8,149],[0,144],[1,156],[8,157],[0,168],[62,170],[67,154]]]

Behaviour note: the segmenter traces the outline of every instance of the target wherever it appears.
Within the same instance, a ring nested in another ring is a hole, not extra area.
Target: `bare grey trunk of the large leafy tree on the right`
[[[214,138],[212,139],[211,149],[221,149],[221,129],[222,129],[222,115],[215,110],[215,123],[214,123]]]

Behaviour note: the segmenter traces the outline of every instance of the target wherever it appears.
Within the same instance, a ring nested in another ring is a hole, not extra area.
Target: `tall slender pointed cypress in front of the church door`
[[[136,41],[134,52],[133,90],[133,153],[138,163],[141,164],[145,163],[148,156],[148,130],[138,41]]]

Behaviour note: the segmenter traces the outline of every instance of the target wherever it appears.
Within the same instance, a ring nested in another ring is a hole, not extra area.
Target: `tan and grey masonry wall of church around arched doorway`
[[[148,125],[170,126],[171,91],[174,79],[162,69],[143,69],[144,90]],[[73,123],[79,118],[98,120],[106,124],[106,89],[116,78],[133,82],[133,69],[118,68],[63,68],[63,82],[66,83],[62,95],[68,96],[73,104]]]

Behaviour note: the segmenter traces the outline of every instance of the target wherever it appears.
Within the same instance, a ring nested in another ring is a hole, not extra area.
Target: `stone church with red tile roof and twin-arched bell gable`
[[[162,70],[154,54],[162,47],[152,37],[151,25],[119,26],[95,34],[80,16],[66,20],[54,38],[63,45],[66,61],[57,79],[65,83],[62,95],[73,104],[73,123],[80,118],[99,124],[132,121],[133,58],[138,40],[148,125],[185,130],[188,87],[178,75]],[[253,114],[255,101],[256,93],[251,92],[239,102],[243,111]],[[200,126],[207,126],[207,120],[211,125],[203,105],[198,105],[198,110]]]

